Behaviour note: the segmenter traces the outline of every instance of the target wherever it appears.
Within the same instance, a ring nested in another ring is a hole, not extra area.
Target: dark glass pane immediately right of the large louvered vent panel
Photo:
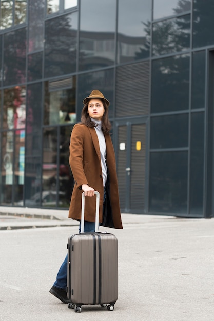
[[[189,55],[152,62],[151,112],[189,108]]]

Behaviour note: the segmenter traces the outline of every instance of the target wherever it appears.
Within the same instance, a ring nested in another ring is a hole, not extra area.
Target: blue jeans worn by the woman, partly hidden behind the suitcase
[[[105,189],[104,189],[104,199],[103,199],[103,203],[105,202],[106,199],[106,193],[105,193]],[[79,233],[81,231],[81,222],[80,222],[80,226],[79,226]],[[87,220],[85,220],[84,223],[84,232],[94,232],[95,231],[95,222],[88,222]],[[68,264],[68,254],[65,257],[65,260],[63,262],[63,264],[60,267],[59,272],[57,273],[56,276],[56,281],[54,282],[54,287],[56,288],[60,288],[60,289],[66,289],[67,287],[67,264]]]

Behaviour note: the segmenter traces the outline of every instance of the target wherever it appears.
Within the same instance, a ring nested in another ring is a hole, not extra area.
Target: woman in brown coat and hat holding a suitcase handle
[[[108,119],[109,101],[99,90],[93,90],[83,101],[81,123],[74,125],[70,139],[69,164],[74,178],[74,188],[69,207],[69,217],[81,221],[81,199],[85,192],[84,231],[95,229],[94,191],[100,192],[99,224],[122,229],[118,180],[114,149],[110,138]],[[81,222],[79,232],[81,230]],[[66,294],[67,256],[57,274],[50,293],[63,303]]]

